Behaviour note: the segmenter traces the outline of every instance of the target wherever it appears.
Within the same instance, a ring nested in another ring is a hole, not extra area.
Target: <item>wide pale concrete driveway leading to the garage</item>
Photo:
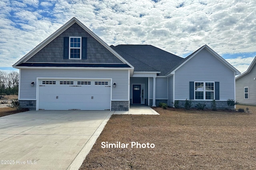
[[[78,169],[114,111],[27,111],[0,117],[0,169]]]

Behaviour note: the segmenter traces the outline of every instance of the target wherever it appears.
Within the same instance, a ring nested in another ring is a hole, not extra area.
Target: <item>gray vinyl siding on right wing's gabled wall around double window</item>
[[[175,72],[175,100],[189,99],[189,82],[220,82],[220,100],[234,99],[234,72],[206,49]]]

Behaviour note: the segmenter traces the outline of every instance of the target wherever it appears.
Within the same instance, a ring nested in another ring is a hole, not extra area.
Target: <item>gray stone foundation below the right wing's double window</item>
[[[179,101],[179,107],[184,108],[185,107],[185,100],[178,100]],[[206,104],[204,108],[206,109],[212,109],[212,100],[210,101],[197,101],[197,100],[191,100],[191,108],[197,108],[196,104]],[[219,101],[215,100],[216,103],[216,109],[225,109],[228,108],[227,101]]]

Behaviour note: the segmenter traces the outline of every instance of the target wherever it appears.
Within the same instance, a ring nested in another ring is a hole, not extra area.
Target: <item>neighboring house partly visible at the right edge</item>
[[[236,100],[240,104],[256,105],[256,57],[246,72],[236,77]]]

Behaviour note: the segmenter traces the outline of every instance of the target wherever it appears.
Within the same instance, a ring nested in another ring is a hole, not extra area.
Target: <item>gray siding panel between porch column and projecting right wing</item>
[[[156,78],[156,99],[168,99],[168,78]]]

